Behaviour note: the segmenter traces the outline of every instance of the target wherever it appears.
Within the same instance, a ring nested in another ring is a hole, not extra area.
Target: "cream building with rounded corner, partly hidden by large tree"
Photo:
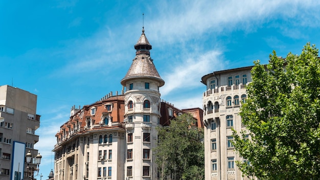
[[[252,68],[216,71],[201,78],[207,86],[202,97],[205,179],[248,179],[235,165],[246,160],[234,151],[231,128],[245,130],[239,110],[247,97],[245,85],[252,80]]]

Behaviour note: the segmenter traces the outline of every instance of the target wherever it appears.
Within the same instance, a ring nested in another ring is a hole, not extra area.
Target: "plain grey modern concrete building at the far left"
[[[37,96],[9,85],[0,86],[0,179],[30,179],[25,154],[36,155],[40,126]],[[21,148],[22,147],[22,148]],[[32,166],[29,165],[29,166]],[[15,178],[14,178],[15,177]]]

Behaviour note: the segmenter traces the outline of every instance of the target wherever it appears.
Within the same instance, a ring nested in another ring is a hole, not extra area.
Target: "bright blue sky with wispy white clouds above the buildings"
[[[70,108],[121,92],[142,13],[162,99],[178,108],[202,107],[203,75],[320,47],[320,1],[0,1],[0,85],[38,96],[43,178]]]

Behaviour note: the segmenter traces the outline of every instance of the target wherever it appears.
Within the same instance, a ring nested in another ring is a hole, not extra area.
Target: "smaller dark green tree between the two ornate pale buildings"
[[[203,130],[193,126],[194,118],[184,114],[158,127],[156,163],[160,179],[204,179]]]

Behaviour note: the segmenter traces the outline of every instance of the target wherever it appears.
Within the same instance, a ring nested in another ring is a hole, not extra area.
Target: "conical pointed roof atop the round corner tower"
[[[155,69],[153,60],[150,57],[149,50],[152,49],[145,33],[144,28],[142,34],[135,44],[134,49],[136,50],[135,58],[126,74],[121,80],[122,85],[126,85],[126,81],[134,78],[150,78],[159,82],[159,86],[163,86],[165,81],[161,79],[159,73]]]

